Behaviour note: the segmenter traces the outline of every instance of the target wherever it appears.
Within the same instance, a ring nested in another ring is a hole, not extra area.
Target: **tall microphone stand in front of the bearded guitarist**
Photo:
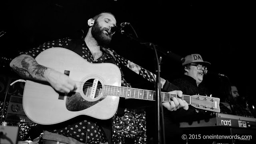
[[[132,28],[132,26],[130,24],[129,24],[129,26]],[[132,30],[134,31],[133,28],[132,28]],[[140,44],[144,44],[148,48],[154,50],[154,52],[156,54],[156,84],[155,84],[156,102],[155,102],[155,106],[157,108],[157,111],[156,111],[156,123],[157,123],[156,124],[157,125],[156,136],[157,136],[157,138],[154,139],[154,144],[165,144],[164,116],[163,116],[163,107],[162,107],[162,100],[161,100],[161,82],[160,82],[160,62],[162,60],[162,57],[160,56],[160,58],[158,58],[156,45],[154,45],[150,42],[145,42],[145,43],[139,42],[139,40],[133,38],[131,36],[131,34],[125,34],[125,32],[124,32],[124,30],[122,30],[122,28],[120,29],[120,32],[121,32],[121,34],[124,34],[128,38],[135,40],[136,42],[138,42]],[[138,38],[135,31],[134,31],[134,34],[136,35],[136,38]],[[162,121],[162,123],[161,123],[161,121]],[[157,142],[156,142],[156,140],[157,140]]]

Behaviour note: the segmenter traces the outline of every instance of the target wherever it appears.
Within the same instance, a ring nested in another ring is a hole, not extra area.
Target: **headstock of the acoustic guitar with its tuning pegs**
[[[220,112],[220,98],[210,96],[191,96],[191,106],[212,112]]]

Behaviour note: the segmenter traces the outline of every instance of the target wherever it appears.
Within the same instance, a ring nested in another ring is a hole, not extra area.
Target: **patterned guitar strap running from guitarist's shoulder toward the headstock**
[[[130,70],[135,72],[136,74],[142,76],[146,80],[156,84],[156,74],[153,74],[152,72],[142,68],[138,64],[135,64],[134,62],[131,62],[130,60],[127,60],[126,58],[124,58],[116,53],[113,53],[106,48],[102,47],[102,49],[104,51],[106,51],[107,53],[109,53],[119,63],[123,64],[124,66],[126,66],[127,68],[129,68]],[[170,82],[168,82],[168,80],[165,80],[164,78],[160,78],[160,83],[161,83],[162,90],[164,90],[166,92],[170,92],[172,90],[179,90],[179,88],[177,86],[175,86],[174,84],[171,84]]]

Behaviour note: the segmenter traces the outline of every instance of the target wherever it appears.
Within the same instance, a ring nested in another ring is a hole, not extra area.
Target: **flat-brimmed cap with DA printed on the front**
[[[191,64],[191,63],[197,63],[197,64],[203,64],[205,66],[210,66],[210,62],[204,62],[202,59],[202,56],[200,54],[190,54],[186,56],[185,61],[182,62],[182,66],[186,64]]]

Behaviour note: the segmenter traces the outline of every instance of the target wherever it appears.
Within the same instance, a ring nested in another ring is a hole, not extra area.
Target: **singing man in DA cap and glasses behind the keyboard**
[[[180,78],[172,81],[185,95],[202,95],[210,96],[210,91],[203,85],[204,70],[210,66],[209,62],[204,62],[200,54],[190,54],[186,56],[182,62],[183,74]],[[165,137],[166,143],[186,143],[182,139],[183,131],[179,127],[179,122],[187,120],[195,120],[200,116],[210,116],[203,110],[196,110],[189,105],[188,110],[178,109],[172,112],[164,112]]]

